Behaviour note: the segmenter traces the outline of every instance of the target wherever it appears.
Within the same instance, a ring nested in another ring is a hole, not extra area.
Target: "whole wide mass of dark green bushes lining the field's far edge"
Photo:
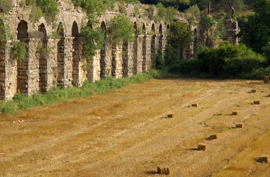
[[[170,72],[190,74],[205,73],[219,78],[260,79],[270,75],[266,59],[256,54],[245,45],[220,43],[216,49],[203,47],[193,60],[177,60],[170,67]]]

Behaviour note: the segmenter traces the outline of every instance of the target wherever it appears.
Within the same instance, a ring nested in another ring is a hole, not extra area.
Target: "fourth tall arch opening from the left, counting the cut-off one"
[[[57,33],[60,35],[60,40],[57,43],[57,86],[64,86],[65,37],[62,22],[58,24]]]

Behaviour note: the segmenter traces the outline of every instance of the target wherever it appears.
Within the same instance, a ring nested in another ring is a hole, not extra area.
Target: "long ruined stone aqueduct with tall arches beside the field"
[[[27,43],[27,59],[22,64],[17,63],[11,55],[13,42],[11,40],[7,42],[11,48],[0,50],[2,100],[12,99],[16,93],[27,96],[37,92],[45,93],[54,86],[81,86],[86,80],[95,82],[108,75],[120,78],[144,73],[155,65],[158,48],[165,50],[165,32],[169,24],[164,21],[155,22],[146,17],[134,17],[134,5],[127,5],[127,16],[134,23],[134,28],[136,31],[139,28],[144,29],[145,34],[139,35],[136,32],[135,40],[124,45],[112,45],[106,41],[104,50],[97,51],[93,60],[86,61],[82,57],[79,33],[81,27],[88,24],[88,18],[80,8],[58,1],[60,12],[54,23],[47,23],[43,17],[31,22],[29,20],[31,7],[19,7],[18,0],[13,0],[13,3],[15,8],[7,15],[7,20],[17,40]],[[93,28],[100,26],[107,30],[109,21],[119,14],[117,8],[99,16],[97,19],[99,23]],[[140,11],[143,13],[142,9]],[[63,25],[63,37],[50,38],[59,24]],[[192,28],[197,32],[195,27]],[[31,38],[29,35],[31,31],[40,31],[44,37]],[[39,45],[42,45],[46,52],[37,52]],[[190,53],[190,49],[185,51],[186,55]],[[87,69],[86,62],[90,66]]]

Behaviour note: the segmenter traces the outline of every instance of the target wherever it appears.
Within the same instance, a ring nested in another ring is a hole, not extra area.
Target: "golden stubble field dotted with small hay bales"
[[[152,79],[1,115],[0,176],[160,176],[157,165],[169,176],[270,176],[256,162],[270,156],[268,94],[262,81]]]

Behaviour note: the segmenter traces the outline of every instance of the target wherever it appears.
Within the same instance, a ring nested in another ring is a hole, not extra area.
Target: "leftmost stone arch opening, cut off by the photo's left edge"
[[[2,19],[0,19],[0,33],[2,35],[5,35],[5,24]],[[0,38],[0,99],[4,100],[5,99],[5,77],[6,77],[6,67],[5,67],[5,48],[4,46],[6,45],[6,41],[4,39]]]

